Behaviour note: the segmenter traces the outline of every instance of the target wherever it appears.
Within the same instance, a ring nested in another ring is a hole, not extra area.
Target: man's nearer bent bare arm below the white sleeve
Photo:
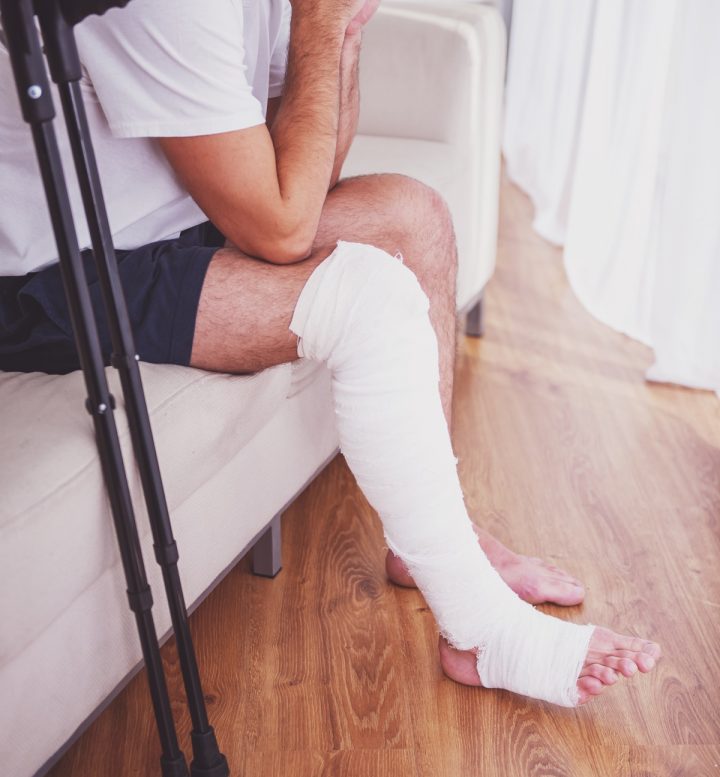
[[[296,2],[283,99],[266,125],[162,138],[190,194],[243,251],[287,264],[305,258],[335,163],[340,63],[357,0]]]

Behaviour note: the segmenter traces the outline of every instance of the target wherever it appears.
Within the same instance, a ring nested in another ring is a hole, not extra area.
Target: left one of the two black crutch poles
[[[185,777],[187,765],[178,746],[162,671],[157,634],[151,614],[152,596],[145,577],[137,527],[114,422],[113,399],[105,378],[87,281],[51,123],[55,114],[35,30],[33,8],[30,0],[0,0],[0,15],[6,32],[23,115],[32,128],[56,238],[62,281],[88,392],[86,406],[93,418],[98,453],[128,585],[128,599],[136,617],[143,658],[147,667],[162,746],[162,772],[164,777]]]

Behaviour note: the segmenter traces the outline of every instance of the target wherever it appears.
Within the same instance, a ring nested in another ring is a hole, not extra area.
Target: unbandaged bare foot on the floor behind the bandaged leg
[[[542,559],[513,553],[484,529],[473,528],[490,563],[521,599],[530,604],[552,602],[569,607],[580,604],[585,598],[585,588],[572,575]],[[415,588],[407,567],[391,550],[385,559],[385,569],[395,585]]]

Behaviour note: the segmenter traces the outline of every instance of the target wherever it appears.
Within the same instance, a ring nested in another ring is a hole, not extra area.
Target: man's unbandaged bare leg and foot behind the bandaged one
[[[455,280],[457,256],[452,220],[442,198],[412,178],[368,175],[341,181],[328,195],[317,241],[371,243],[395,254],[415,273],[430,298],[430,320],[440,349],[440,393],[451,425],[453,366],[456,346]],[[505,582],[531,604],[575,605],[585,589],[572,575],[541,559],[514,553],[476,527],[478,540]],[[392,551],[386,558],[388,578],[414,587],[407,568]]]

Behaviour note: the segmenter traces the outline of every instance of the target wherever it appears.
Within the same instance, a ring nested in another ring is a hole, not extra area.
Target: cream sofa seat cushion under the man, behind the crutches
[[[293,368],[230,376],[142,365],[171,512],[209,480],[293,390]],[[299,377],[307,381],[307,365]],[[114,370],[126,462],[129,430]],[[117,561],[82,374],[0,373],[0,664],[4,664]],[[150,533],[135,467],[128,467],[141,537]],[[146,559],[146,564],[154,563]],[[22,606],[18,606],[21,602]]]

